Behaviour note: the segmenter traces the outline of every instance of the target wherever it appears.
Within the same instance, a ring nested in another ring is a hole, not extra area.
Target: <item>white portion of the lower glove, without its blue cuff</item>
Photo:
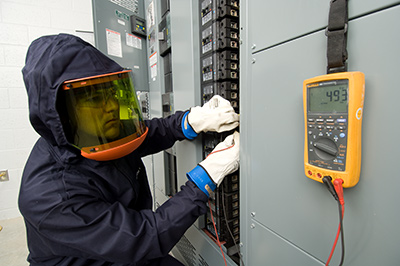
[[[219,186],[226,175],[239,168],[240,134],[235,131],[220,142],[204,161],[199,163]]]

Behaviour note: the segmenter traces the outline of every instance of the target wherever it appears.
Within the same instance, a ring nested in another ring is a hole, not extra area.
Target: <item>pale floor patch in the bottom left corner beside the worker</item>
[[[1,220],[0,226],[0,265],[26,266],[28,248],[26,247],[25,225],[22,217]]]

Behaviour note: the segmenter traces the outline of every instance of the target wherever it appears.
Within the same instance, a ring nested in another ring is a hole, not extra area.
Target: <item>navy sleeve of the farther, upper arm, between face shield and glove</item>
[[[147,137],[138,148],[141,157],[171,148],[177,140],[186,139],[182,131],[184,112],[177,111],[166,118],[146,120]]]

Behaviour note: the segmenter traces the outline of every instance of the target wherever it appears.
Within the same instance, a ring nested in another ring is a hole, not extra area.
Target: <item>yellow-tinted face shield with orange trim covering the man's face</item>
[[[108,161],[134,151],[148,129],[133,88],[132,70],[65,81],[68,140],[82,156]]]

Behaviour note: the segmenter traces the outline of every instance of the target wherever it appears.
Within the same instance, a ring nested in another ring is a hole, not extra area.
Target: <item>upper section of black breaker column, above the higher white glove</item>
[[[200,1],[201,93],[214,95],[239,110],[239,1]]]

